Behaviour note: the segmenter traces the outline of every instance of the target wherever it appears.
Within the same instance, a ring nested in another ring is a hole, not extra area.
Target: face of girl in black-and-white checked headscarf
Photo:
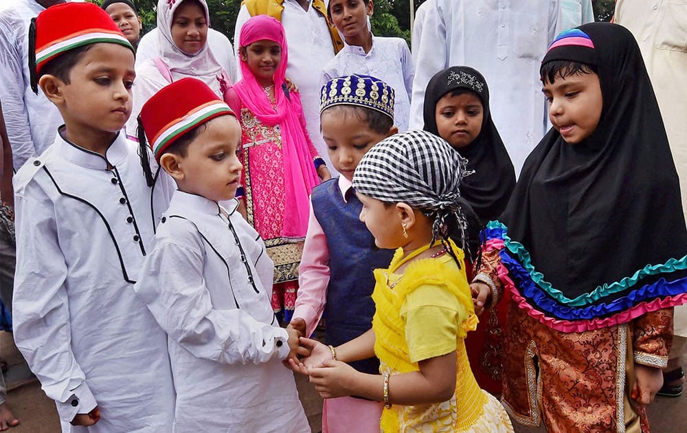
[[[396,206],[385,206],[381,200],[373,199],[356,192],[358,199],[363,203],[359,219],[365,223],[372,236],[374,245],[379,248],[396,249],[403,247],[407,239],[403,237],[403,225],[401,225],[401,212]]]

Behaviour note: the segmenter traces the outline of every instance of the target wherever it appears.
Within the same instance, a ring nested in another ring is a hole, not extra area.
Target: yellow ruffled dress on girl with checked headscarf
[[[480,389],[465,351],[467,331],[477,327],[477,316],[465,275],[463,252],[451,243],[460,268],[449,254],[403,263],[429,245],[403,257],[398,249],[388,269],[376,269],[372,299],[376,313],[372,329],[374,353],[382,374],[418,371],[418,362],[455,351],[458,355],[455,393],[449,401],[418,406],[393,405],[381,417],[381,430],[396,432],[513,432],[508,414],[495,397]]]

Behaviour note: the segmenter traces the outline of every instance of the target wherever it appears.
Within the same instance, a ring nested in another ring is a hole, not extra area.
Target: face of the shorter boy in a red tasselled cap
[[[214,201],[233,199],[241,179],[242,166],[236,156],[240,138],[241,128],[232,115],[207,122],[205,130],[188,145],[185,157],[172,155],[177,159],[177,171],[170,175],[179,189]]]

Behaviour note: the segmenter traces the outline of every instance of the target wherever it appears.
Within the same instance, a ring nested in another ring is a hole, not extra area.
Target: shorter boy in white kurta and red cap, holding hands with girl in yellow
[[[174,432],[309,432],[282,365],[298,335],[275,319],[273,263],[234,199],[242,167],[234,113],[203,82],[183,78],[144,104],[141,124],[179,188],[135,285],[168,333]]]

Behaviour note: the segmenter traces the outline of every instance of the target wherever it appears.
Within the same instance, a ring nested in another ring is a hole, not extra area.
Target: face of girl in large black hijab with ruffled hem
[[[565,142],[578,144],[596,131],[603,108],[598,75],[556,75],[554,82],[544,81],[542,91],[549,101],[549,120]]]

